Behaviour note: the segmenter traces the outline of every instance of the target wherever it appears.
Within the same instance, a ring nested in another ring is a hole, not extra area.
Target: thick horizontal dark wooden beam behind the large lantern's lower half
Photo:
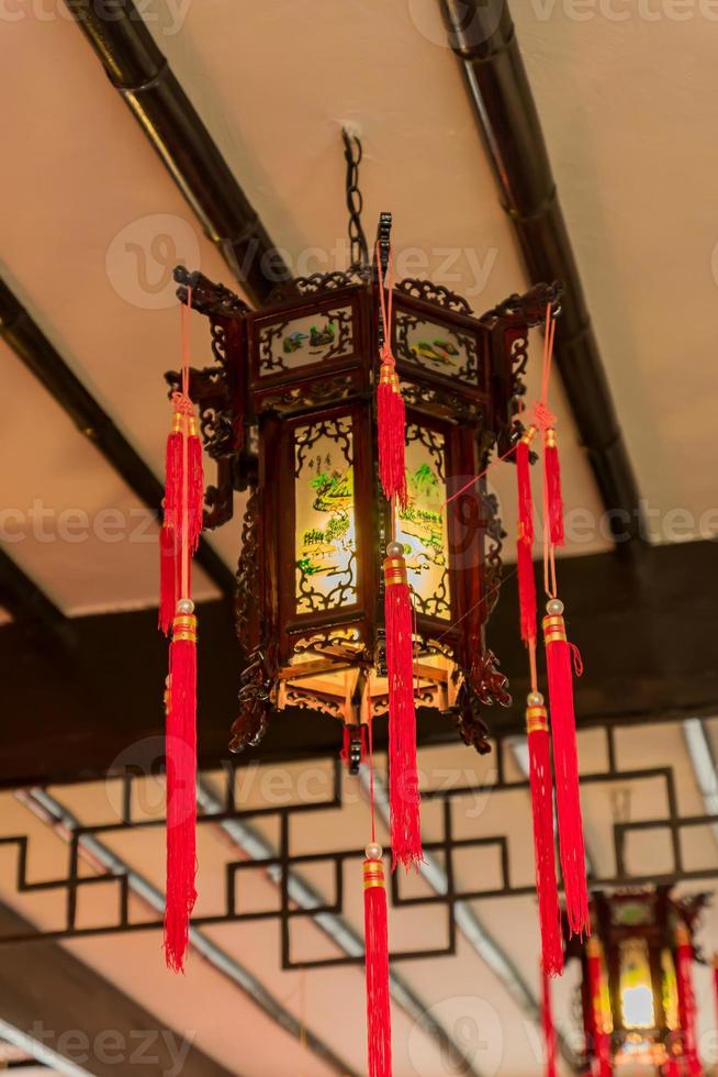
[[[576,682],[581,725],[718,713],[716,548],[695,542],[648,547],[636,563],[613,553],[561,562],[566,623],[586,666]],[[509,677],[515,703],[484,715],[506,733],[523,731],[529,690],[516,611],[509,571],[487,643]],[[229,602],[204,603],[199,619],[199,752],[201,766],[212,767],[228,758],[240,659]],[[74,619],[79,646],[71,665],[41,648],[32,652],[13,624],[0,630],[3,711],[27,715],[0,723],[0,785],[69,781],[126,764],[157,764],[167,646],[155,621],[153,611]],[[456,736],[448,719],[422,713],[422,742]],[[384,741],[385,721],[378,719],[377,744]],[[287,710],[272,719],[261,746],[240,759],[321,756],[338,752],[340,742],[339,723]]]

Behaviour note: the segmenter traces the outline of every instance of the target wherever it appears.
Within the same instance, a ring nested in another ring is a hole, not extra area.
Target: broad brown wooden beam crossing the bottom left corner
[[[27,920],[0,904],[0,934],[29,931]],[[96,1077],[231,1077],[192,1044],[192,1030],[167,1028],[57,943],[19,943],[3,955],[0,1014]]]

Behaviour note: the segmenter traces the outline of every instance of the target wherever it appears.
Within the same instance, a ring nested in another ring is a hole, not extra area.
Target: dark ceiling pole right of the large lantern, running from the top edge
[[[556,357],[614,531],[646,537],[638,485],[591,325],[506,0],[441,0],[482,141],[531,282],[561,280]]]

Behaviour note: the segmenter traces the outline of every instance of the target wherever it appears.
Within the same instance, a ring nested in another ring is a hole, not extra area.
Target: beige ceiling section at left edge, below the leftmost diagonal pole
[[[155,603],[154,514],[4,342],[0,378],[16,404],[0,428],[4,548],[65,613]],[[195,596],[216,596],[195,571]]]

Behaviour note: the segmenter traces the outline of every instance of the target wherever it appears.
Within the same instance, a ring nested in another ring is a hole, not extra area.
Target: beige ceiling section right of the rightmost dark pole
[[[680,11],[678,11],[680,7]],[[718,532],[710,4],[514,3],[606,370],[661,541]],[[618,11],[616,18],[606,12]]]

